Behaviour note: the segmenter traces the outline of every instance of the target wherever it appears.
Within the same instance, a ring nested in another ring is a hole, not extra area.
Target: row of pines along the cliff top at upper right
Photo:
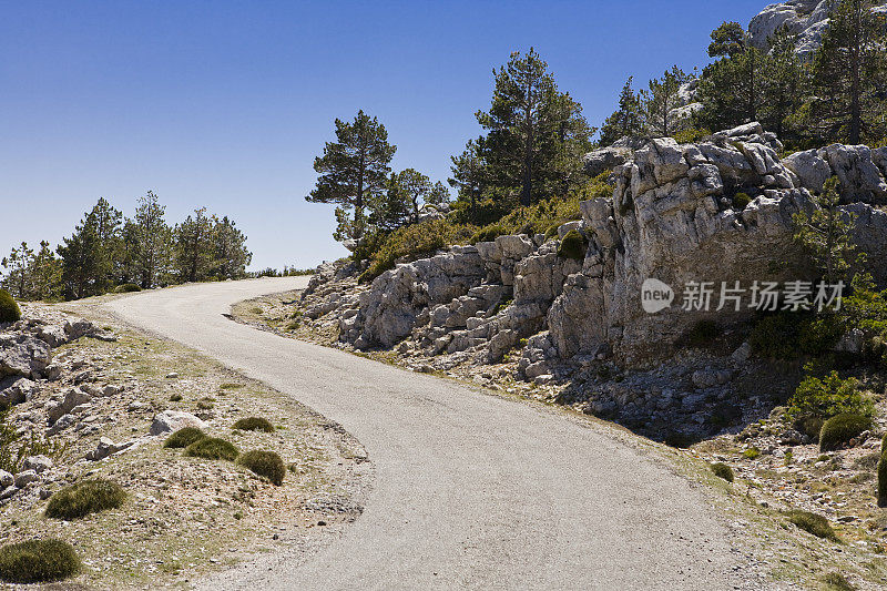
[[[715,29],[699,77],[691,116],[697,130],[724,130],[759,121],[788,146],[833,142],[883,144],[887,135],[887,22],[873,12],[874,0],[835,0],[822,45],[808,61],[795,52],[786,29],[766,49],[751,42],[737,22]],[[619,109],[601,129],[602,145],[631,136],[672,136],[680,122],[670,115],[682,104],[681,85],[693,77],[677,67],[635,92],[629,78]]]

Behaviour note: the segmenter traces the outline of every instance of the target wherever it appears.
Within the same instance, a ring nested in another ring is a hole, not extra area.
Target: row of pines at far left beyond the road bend
[[[78,299],[129,284],[147,289],[246,276],[252,253],[233,221],[204,207],[170,226],[165,213],[150,191],[133,217],[100,198],[54,252],[45,241],[37,251],[27,243],[12,248],[0,261],[0,286],[18,299]]]

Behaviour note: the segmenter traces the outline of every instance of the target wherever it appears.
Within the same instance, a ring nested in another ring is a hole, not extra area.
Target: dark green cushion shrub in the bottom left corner
[[[61,581],[80,572],[80,559],[70,543],[31,540],[0,548],[0,580],[9,583]]]

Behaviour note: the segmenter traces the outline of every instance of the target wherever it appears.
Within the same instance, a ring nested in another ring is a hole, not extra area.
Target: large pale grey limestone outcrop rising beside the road
[[[836,175],[854,215],[853,237],[887,283],[884,150],[833,145],[778,157],[782,144],[758,123],[695,144],[656,139],[626,154],[612,172],[612,197],[581,204],[581,220],[551,238],[499,236],[398,264],[369,286],[357,273],[326,266],[303,295],[307,317],[337,323],[356,348],[392,348],[434,359],[435,367],[519,359],[523,376],[557,379],[563,363],[614,358],[625,365],[669,356],[701,320],[730,326],[752,314],[684,305],[685,286],[712,291],[738,282],[809,279],[793,240],[793,215],[812,211],[813,193]],[[578,259],[559,245],[578,231]],[[642,286],[655,278],[673,300],[644,310]],[[700,377],[702,379],[702,377]]]

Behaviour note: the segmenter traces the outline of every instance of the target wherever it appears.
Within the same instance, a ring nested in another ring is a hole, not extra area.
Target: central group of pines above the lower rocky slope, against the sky
[[[594,134],[582,106],[558,90],[539,54],[512,53],[493,70],[488,111],[476,118],[485,133],[452,156],[449,185],[462,223],[483,225],[518,206],[528,206],[588,182],[582,155]],[[376,118],[359,111],[353,122],[336,120],[336,141],[315,160],[318,173],[307,201],[336,204],[340,242],[391,233],[419,221],[425,205],[450,201],[447,186],[414,169],[392,172],[397,146]]]

